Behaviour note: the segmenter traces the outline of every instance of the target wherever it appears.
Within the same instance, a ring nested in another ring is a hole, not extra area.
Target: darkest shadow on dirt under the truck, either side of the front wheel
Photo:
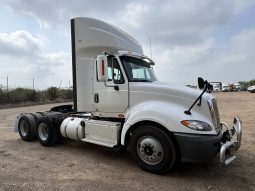
[[[106,148],[90,143],[77,142],[72,140],[64,140],[63,144],[59,144],[58,147],[64,147],[66,150],[73,154],[82,155],[91,158],[97,158],[101,162],[107,163],[113,166],[118,171],[123,169],[129,169],[136,172],[144,172],[139,166],[132,160],[129,155],[129,150],[126,151],[115,151],[111,148]],[[61,149],[62,150],[62,149]],[[235,165],[236,166],[236,165]],[[124,167],[122,169],[122,167]],[[175,167],[167,174],[161,175],[165,177],[214,177],[218,178],[219,174],[228,174],[230,171],[227,167],[224,167],[215,158],[209,163],[182,163],[178,162]],[[120,172],[121,173],[121,172]],[[145,172],[146,173],[146,172]],[[151,173],[150,173],[151,174]],[[220,176],[221,177],[221,176]]]

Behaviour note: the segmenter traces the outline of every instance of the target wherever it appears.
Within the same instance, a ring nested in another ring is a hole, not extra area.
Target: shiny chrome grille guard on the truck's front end
[[[242,121],[238,116],[235,116],[232,128],[229,128],[226,123],[221,123],[221,127],[225,127],[227,129],[224,132],[225,135],[227,135],[227,138],[221,142],[220,162],[228,165],[236,158],[236,156],[232,153],[237,151],[241,146]]]

